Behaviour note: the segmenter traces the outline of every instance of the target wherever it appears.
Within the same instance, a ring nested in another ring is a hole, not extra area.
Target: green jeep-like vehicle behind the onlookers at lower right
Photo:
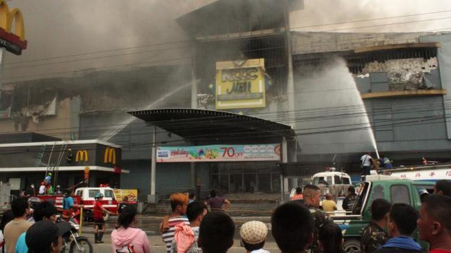
[[[332,216],[334,222],[342,229],[344,236],[344,252],[360,252],[360,237],[363,229],[371,221],[371,203],[378,198],[384,198],[395,203],[412,205],[417,211],[420,209],[420,194],[434,188],[433,182],[412,180],[374,180],[365,181],[360,195],[354,205],[352,215]],[[413,234],[419,241],[418,231]],[[427,244],[419,241],[423,249]]]

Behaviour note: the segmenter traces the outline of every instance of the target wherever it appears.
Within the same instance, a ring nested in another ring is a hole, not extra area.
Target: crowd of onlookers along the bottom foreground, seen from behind
[[[437,182],[434,193],[422,197],[419,212],[408,204],[371,200],[372,220],[363,231],[361,252],[425,252],[411,237],[417,229],[419,238],[428,243],[429,252],[451,252],[451,181]],[[172,213],[164,217],[160,225],[168,253],[222,253],[232,247],[236,224],[224,212],[230,202],[214,191],[211,197],[199,202],[194,195],[185,193],[170,196]],[[276,208],[271,216],[271,229],[260,221],[242,224],[241,245],[247,252],[268,252],[264,248],[271,230],[282,252],[342,252],[342,231],[321,209],[320,197],[317,186],[305,186],[302,199]],[[37,204],[33,222],[27,220],[29,213],[26,198],[12,201],[11,211],[4,214],[0,224],[4,252],[60,252],[61,235],[54,223],[55,206],[49,202]],[[133,206],[121,208],[111,233],[113,252],[150,252],[149,239],[144,231],[135,227],[136,222],[137,212]]]

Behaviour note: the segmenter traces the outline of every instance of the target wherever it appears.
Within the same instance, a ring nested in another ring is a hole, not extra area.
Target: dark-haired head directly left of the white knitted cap
[[[211,212],[203,217],[199,227],[198,245],[203,253],[224,253],[233,245],[235,223],[223,212]]]

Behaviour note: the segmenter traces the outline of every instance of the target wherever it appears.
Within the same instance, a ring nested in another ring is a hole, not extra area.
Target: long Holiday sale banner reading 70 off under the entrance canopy
[[[280,160],[279,144],[157,147],[157,163]]]

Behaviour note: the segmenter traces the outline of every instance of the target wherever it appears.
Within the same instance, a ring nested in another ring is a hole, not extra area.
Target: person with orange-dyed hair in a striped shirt
[[[166,244],[166,250],[171,252],[172,241],[174,240],[175,225],[184,222],[190,225],[186,217],[188,206],[188,195],[184,193],[173,193],[169,197],[171,200],[172,214],[165,216],[160,224],[160,232],[163,242]]]

